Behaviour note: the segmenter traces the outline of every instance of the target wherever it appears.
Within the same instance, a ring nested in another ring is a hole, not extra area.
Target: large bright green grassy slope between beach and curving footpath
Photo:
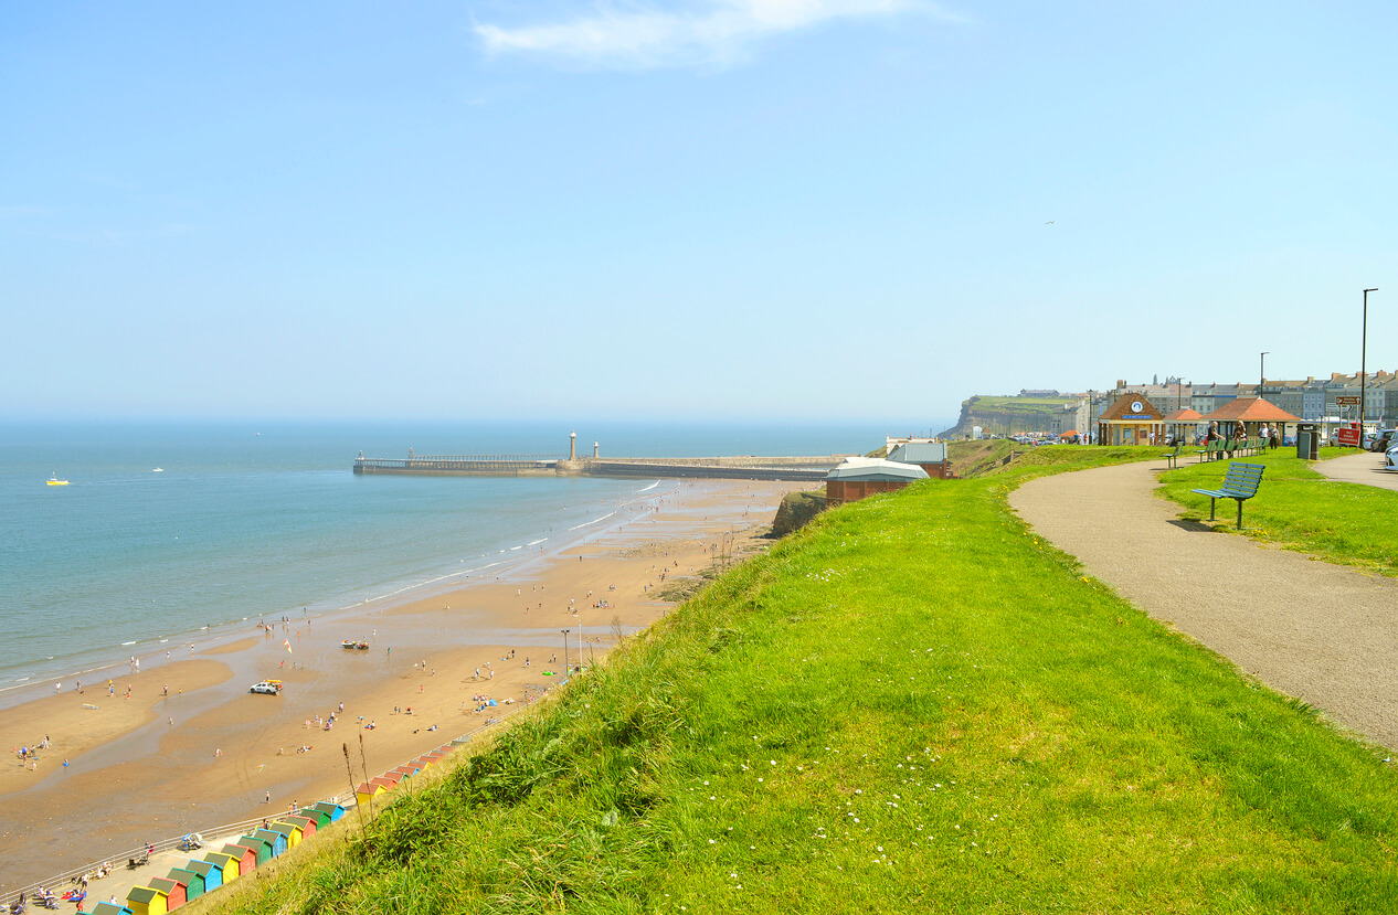
[[[1388,911],[1394,773],[1081,577],[1009,485],[825,513],[240,908]]]

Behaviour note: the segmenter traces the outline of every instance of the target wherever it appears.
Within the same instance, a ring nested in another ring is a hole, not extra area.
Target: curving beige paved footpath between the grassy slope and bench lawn
[[[1044,476],[1012,492],[1009,504],[1151,616],[1398,747],[1398,581],[1180,521],[1180,507],[1152,492],[1162,469],[1142,462]],[[1265,497],[1264,476],[1257,499]],[[1219,517],[1234,518],[1233,500],[1220,502]]]

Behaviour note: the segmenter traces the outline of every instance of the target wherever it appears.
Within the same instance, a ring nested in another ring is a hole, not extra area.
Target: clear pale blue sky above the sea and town
[[[8,3],[0,415],[902,430],[1364,286],[1394,370],[1394,10]]]

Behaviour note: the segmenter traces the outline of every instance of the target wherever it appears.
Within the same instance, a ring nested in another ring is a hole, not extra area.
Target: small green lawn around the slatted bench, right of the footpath
[[[1353,448],[1321,450],[1323,457],[1353,453]],[[1329,481],[1297,458],[1295,450],[1278,448],[1237,460],[1267,467],[1257,496],[1243,504],[1243,534],[1328,562],[1398,576],[1398,550],[1394,549],[1398,493]],[[1186,518],[1208,521],[1208,496],[1190,490],[1216,488],[1226,468],[1226,461],[1181,465],[1162,474],[1160,492],[1186,507]],[[1232,499],[1219,502],[1218,518],[1219,529],[1236,529],[1237,510]]]

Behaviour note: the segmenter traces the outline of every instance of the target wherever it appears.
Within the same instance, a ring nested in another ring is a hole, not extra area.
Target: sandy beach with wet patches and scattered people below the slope
[[[498,577],[336,617],[249,623],[221,644],[186,644],[140,673],[110,675],[110,690],[108,673],[81,691],[36,687],[0,712],[14,749],[0,767],[0,893],[145,841],[344,793],[344,743],[358,774],[362,738],[376,775],[538,701],[563,676],[565,638],[570,664],[601,657],[617,633],[663,616],[672,603],[661,591],[720,549],[762,549],[754,538],[797,488],[685,482],[636,521]],[[370,647],[344,650],[347,638]],[[280,696],[247,691],[267,678],[282,680]],[[487,698],[498,705],[478,711]],[[48,749],[20,759],[45,738]]]

